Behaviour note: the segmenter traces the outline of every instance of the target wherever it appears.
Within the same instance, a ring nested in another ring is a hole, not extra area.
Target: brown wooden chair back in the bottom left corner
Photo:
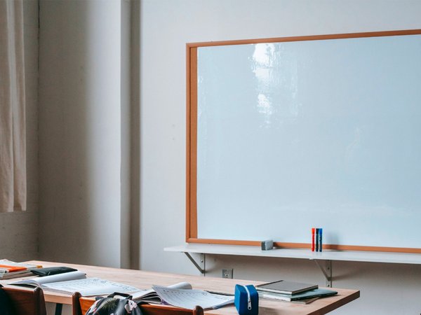
[[[41,288],[27,290],[3,287],[15,315],[46,315],[46,301]]]

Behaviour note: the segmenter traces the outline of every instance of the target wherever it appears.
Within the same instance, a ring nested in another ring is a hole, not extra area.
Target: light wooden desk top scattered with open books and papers
[[[130,269],[118,269],[109,267],[93,267],[87,265],[74,265],[67,263],[58,262],[44,262],[44,261],[28,261],[37,265],[43,265],[44,267],[53,267],[59,265],[65,265],[68,267],[74,267],[82,272],[86,272],[88,277],[98,277],[107,279],[109,281],[115,281],[119,283],[126,283],[130,286],[134,286],[140,289],[151,288],[152,285],[169,286],[174,283],[187,281],[192,284],[193,288],[201,290],[211,290],[222,293],[234,293],[234,286],[238,284],[260,284],[260,281],[246,281],[238,279],[222,279],[213,278],[208,276],[188,276],[183,274],[166,274],[161,272],[147,272],[142,270],[130,270]],[[1,284],[11,281],[17,281],[18,279],[3,280]],[[333,297],[324,297],[323,299],[316,300],[310,304],[293,304],[289,302],[278,302],[273,300],[262,300],[259,301],[259,314],[263,315],[304,315],[304,314],[326,314],[333,309],[337,309],[342,305],[345,305],[359,297],[359,290],[347,290],[334,288],[333,290],[338,291],[338,295]],[[44,290],[44,296],[46,302],[72,304],[72,297],[61,293],[49,292]],[[237,313],[234,306],[223,307],[221,309],[211,309],[205,312],[205,314],[232,314]]]

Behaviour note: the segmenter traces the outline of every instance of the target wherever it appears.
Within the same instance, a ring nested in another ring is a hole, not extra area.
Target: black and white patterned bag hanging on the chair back
[[[124,299],[114,297],[120,295]],[[143,315],[136,302],[131,300],[131,295],[112,293],[107,297],[97,297],[97,300],[86,311],[86,315]]]

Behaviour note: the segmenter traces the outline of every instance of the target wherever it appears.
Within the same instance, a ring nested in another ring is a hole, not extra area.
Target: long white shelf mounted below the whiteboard
[[[274,248],[262,251],[258,246],[219,245],[219,244],[184,244],[163,248],[164,251],[179,253],[202,253],[214,255],[239,255],[275,258],[300,258],[309,260],[345,260],[360,262],[387,262],[397,264],[421,265],[421,254],[385,253],[374,251],[323,251],[312,252],[309,249]]]

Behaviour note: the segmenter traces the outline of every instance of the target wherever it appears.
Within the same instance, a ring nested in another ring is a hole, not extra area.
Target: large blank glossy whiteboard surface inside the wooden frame
[[[204,45],[194,70],[192,239],[421,248],[421,34]]]

